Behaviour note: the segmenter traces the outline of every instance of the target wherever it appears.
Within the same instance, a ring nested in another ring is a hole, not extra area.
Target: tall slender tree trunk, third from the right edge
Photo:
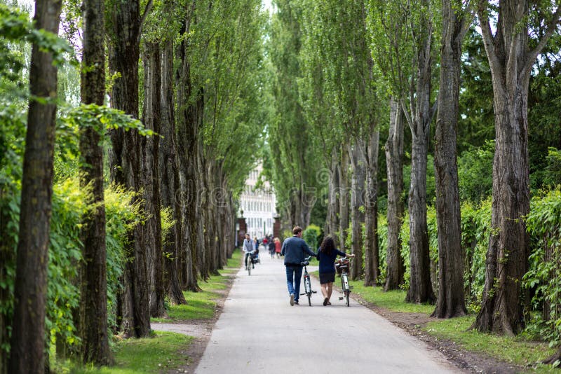
[[[414,98],[410,101],[412,118],[408,118],[413,144],[409,190],[410,286],[405,300],[408,303],[433,303],[435,296],[431,284],[426,223],[426,156],[432,120],[430,98],[433,30],[430,15],[423,16],[420,22],[421,31],[417,40],[417,87],[414,95],[411,95]]]

